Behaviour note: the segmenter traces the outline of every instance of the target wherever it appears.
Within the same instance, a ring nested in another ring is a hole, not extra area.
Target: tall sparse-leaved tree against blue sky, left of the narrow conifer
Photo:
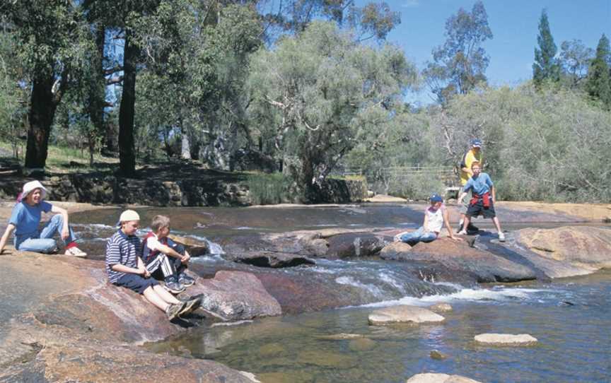
[[[433,61],[423,71],[439,102],[466,94],[487,81],[484,73],[490,58],[482,43],[492,38],[492,31],[482,1],[473,5],[471,13],[460,8],[450,16],[445,35],[446,42],[433,49]]]

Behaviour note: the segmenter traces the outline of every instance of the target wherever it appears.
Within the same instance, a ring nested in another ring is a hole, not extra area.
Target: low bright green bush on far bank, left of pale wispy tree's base
[[[247,176],[250,200],[255,205],[290,202],[291,179],[282,173],[255,173]]]

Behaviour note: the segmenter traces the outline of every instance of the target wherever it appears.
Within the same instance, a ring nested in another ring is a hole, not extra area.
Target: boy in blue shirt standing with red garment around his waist
[[[465,187],[462,189],[462,193],[458,199],[463,199],[467,195],[467,192],[472,191],[472,197],[469,201],[469,207],[465,214],[465,222],[462,223],[462,230],[458,234],[467,234],[467,227],[472,217],[477,217],[480,214],[484,218],[492,218],[492,222],[496,226],[496,230],[499,232],[499,241],[505,242],[505,235],[501,230],[501,223],[499,218],[496,218],[494,211],[494,201],[496,201],[496,191],[492,179],[487,173],[482,173],[482,168],[479,163],[475,161],[471,165],[473,176],[467,181]]]

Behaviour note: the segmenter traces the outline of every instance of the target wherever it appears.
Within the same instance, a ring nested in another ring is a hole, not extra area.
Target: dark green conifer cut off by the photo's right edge
[[[607,108],[611,108],[611,76],[609,72],[609,62],[611,62],[611,49],[609,39],[603,34],[598,40],[596,56],[588,69],[588,83],[586,89],[588,94],[597,98]]]

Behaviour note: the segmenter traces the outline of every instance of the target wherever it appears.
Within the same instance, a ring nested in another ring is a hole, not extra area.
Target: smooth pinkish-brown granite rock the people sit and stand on
[[[60,205],[71,212],[98,208]],[[3,223],[11,208],[12,202],[1,204]],[[566,212],[553,213],[551,208],[535,213],[535,219],[513,206],[499,204],[499,209],[506,209],[503,213],[514,222],[533,226],[542,215],[567,224],[583,220]],[[414,247],[392,243],[397,231],[333,228],[232,237],[224,247],[226,258],[236,267],[194,265],[192,269],[201,277],[187,291],[204,297],[204,310],[175,324],[141,296],[108,285],[102,261],[9,250],[0,255],[0,382],[145,382],[151,376],[185,382],[252,382],[250,375],[219,363],[149,353],[138,345],[179,334],[193,324],[376,301],[375,296],[359,295],[354,286],[335,278],[272,272],[286,267],[307,269],[322,259],[395,262],[422,281],[474,284],[547,280],[611,267],[608,228],[523,228],[508,233],[505,244],[483,232],[475,241],[441,238]]]

